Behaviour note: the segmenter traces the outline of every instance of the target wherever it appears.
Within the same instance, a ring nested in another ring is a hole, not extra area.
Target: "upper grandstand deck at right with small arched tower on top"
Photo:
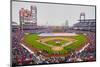
[[[85,14],[81,13],[80,20],[78,20],[78,23],[73,25],[73,29],[95,32],[96,19],[85,19]]]

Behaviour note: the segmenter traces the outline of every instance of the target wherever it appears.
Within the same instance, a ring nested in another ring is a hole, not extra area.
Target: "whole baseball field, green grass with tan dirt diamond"
[[[65,54],[82,48],[87,42],[83,34],[75,36],[50,35],[40,36],[40,34],[27,34],[23,38],[24,43],[48,54]]]

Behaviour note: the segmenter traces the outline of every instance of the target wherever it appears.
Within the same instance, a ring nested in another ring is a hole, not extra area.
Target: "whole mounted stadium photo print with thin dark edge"
[[[11,66],[96,61],[96,6],[11,1]]]

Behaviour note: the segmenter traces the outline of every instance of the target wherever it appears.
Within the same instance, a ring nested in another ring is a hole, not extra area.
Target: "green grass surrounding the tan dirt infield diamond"
[[[75,50],[75,49],[79,48],[80,46],[84,45],[84,43],[86,42],[86,36],[84,36],[82,34],[80,34],[78,36],[73,36],[71,38],[74,38],[77,41],[68,45],[68,46],[65,46],[64,49],[61,50],[61,51],[53,51],[51,49],[51,47],[37,42],[36,40],[39,39],[38,34],[28,34],[28,35],[24,36],[24,41],[25,41],[25,43],[27,43],[28,45],[30,45],[32,47],[35,47],[35,48],[40,49],[42,51],[48,52],[48,54],[52,54],[52,53],[56,53],[56,52],[59,52],[60,54],[64,54],[64,53],[67,53],[67,52],[71,52],[72,50]],[[52,45],[57,45],[53,41],[48,41],[48,43],[50,43]],[[61,44],[64,44],[64,43],[66,43],[66,42],[65,41],[61,42]]]

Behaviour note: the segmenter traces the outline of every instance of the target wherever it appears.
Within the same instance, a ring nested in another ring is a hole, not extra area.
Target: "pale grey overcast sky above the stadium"
[[[19,10],[21,8],[30,10],[31,5],[37,7],[38,25],[61,26],[68,21],[68,25],[73,26],[73,24],[78,22],[81,12],[85,13],[86,19],[95,19],[95,7],[93,6],[13,1],[12,21],[19,24]]]

